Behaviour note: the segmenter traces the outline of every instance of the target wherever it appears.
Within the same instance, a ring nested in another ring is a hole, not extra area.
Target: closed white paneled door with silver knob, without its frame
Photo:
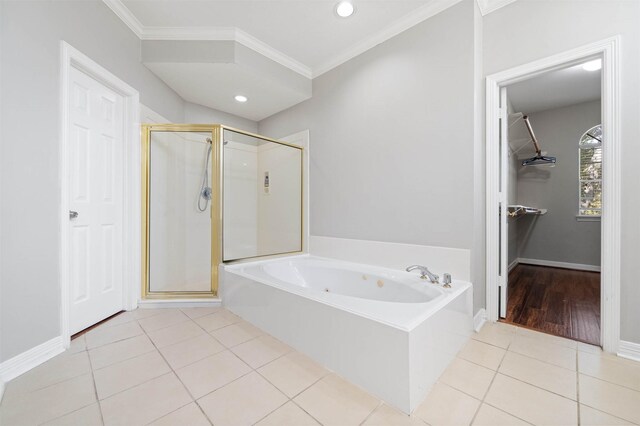
[[[69,327],[74,334],[124,306],[124,99],[74,67],[69,90]]]

